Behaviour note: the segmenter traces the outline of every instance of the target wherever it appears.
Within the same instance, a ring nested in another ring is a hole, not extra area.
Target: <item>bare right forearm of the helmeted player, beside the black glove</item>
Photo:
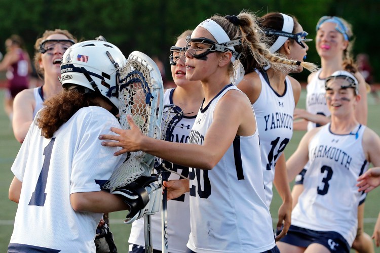
[[[129,208],[120,196],[104,191],[72,193],[70,202],[77,212],[111,213]]]

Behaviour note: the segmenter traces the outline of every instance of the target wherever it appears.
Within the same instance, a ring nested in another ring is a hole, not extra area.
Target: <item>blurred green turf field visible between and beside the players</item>
[[[305,105],[305,91],[302,92],[299,101],[299,107]],[[3,105],[4,90],[0,90],[0,103]],[[380,114],[377,111],[378,106],[374,105],[372,97],[368,97],[368,126],[380,135]],[[295,132],[292,140],[285,149],[286,157],[289,157],[295,150],[301,139],[303,132]],[[0,110],[0,252],[5,252],[12,234],[13,221],[16,214],[17,204],[8,199],[8,189],[12,181],[13,174],[10,171],[13,160],[16,157],[20,144],[13,136],[12,128],[9,119],[4,110]],[[380,155],[380,154],[379,154]],[[344,189],[343,189],[344,190]],[[365,224],[364,230],[372,235],[374,223],[378,212],[380,211],[380,189],[377,188],[368,194],[365,205]],[[281,204],[281,199],[275,191],[275,196],[272,201],[271,212],[274,222],[277,220],[277,210]],[[120,253],[128,252],[127,240],[130,232],[130,226],[124,225],[123,220],[126,212],[117,212],[110,214],[110,228],[115,235],[115,241]],[[169,218],[170,219],[170,218]],[[259,219],[259,218],[258,218]],[[33,231],[30,231],[33,233]],[[170,238],[169,238],[170,240]],[[380,248],[376,248],[376,252],[380,253]]]

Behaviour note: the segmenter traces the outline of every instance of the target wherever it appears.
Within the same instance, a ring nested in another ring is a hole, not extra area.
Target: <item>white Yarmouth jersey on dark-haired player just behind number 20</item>
[[[261,166],[264,176],[265,198],[268,207],[273,197],[275,165],[293,135],[293,112],[295,107],[293,89],[285,78],[285,92],[279,95],[268,80],[256,70],[261,80],[261,93],[252,105],[255,111],[260,137]]]

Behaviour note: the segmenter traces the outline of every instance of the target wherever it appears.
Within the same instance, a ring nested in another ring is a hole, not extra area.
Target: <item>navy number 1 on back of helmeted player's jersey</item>
[[[46,182],[48,181],[48,173],[50,166],[50,157],[54,146],[55,138],[52,138],[48,146],[44,149],[44,163],[42,164],[42,170],[35,186],[34,192],[30,198],[29,205],[44,206],[46,199]]]

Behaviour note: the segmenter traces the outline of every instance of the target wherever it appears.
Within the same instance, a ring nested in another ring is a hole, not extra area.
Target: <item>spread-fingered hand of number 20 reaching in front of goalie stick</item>
[[[130,130],[123,130],[118,128],[111,128],[111,132],[117,135],[100,135],[100,140],[106,140],[101,142],[102,146],[109,147],[122,147],[121,150],[115,152],[114,155],[121,155],[127,152],[136,152],[141,150],[140,143],[145,137],[138,126],[132,119],[131,115],[127,115],[128,124],[131,126]]]

